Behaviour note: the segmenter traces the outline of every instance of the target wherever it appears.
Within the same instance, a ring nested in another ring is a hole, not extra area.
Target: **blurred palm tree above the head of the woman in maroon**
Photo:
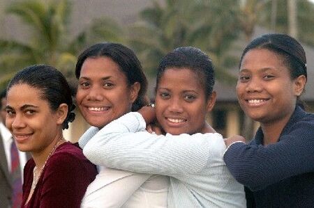
[[[8,76],[35,63],[54,65],[65,72],[73,67],[73,50],[82,36],[64,44],[68,42],[69,1],[19,1],[12,3],[7,12],[20,17],[31,29],[31,38],[26,42],[0,40],[0,63]]]

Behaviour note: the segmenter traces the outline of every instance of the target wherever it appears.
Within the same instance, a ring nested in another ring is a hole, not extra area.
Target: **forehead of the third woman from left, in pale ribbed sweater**
[[[162,77],[160,77],[158,88],[203,90],[202,81],[197,72],[185,67],[171,67],[165,70]]]

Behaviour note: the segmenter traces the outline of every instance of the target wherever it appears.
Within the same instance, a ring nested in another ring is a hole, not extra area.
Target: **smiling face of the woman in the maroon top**
[[[40,93],[25,83],[15,84],[8,90],[6,127],[23,152],[43,152],[61,134],[64,115],[62,119],[58,110],[52,111]]]

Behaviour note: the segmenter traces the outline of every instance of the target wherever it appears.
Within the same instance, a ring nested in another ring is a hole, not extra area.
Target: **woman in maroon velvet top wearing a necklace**
[[[15,74],[7,95],[6,126],[33,157],[24,168],[22,207],[80,207],[97,171],[63,138],[75,117],[66,79],[54,67],[33,65]]]

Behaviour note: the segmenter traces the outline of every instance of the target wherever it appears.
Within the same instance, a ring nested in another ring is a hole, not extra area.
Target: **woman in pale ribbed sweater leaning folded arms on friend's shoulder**
[[[93,163],[136,173],[170,176],[169,207],[245,207],[244,187],[223,162],[223,137],[206,115],[214,106],[214,68],[200,49],[181,47],[158,68],[156,111],[127,113],[84,145]],[[157,119],[165,135],[145,131]],[[92,129],[90,129],[92,131]]]

